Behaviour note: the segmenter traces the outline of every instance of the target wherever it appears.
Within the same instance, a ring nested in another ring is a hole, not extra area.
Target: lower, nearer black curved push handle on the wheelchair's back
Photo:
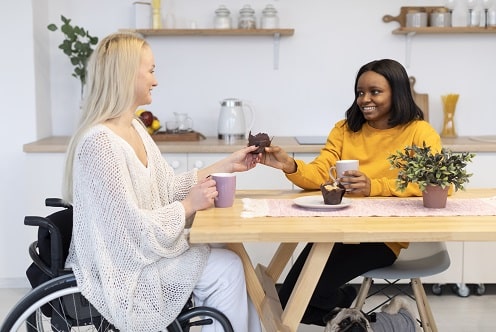
[[[62,257],[62,236],[59,229],[52,221],[39,216],[24,217],[24,224],[28,226],[38,226],[45,228],[50,233],[50,255],[51,255],[51,274],[58,275],[59,268],[64,266],[65,259]],[[31,255],[31,254],[30,254]],[[36,255],[38,256],[38,255]],[[38,256],[39,258],[39,256]],[[41,268],[41,267],[40,267]],[[42,268],[41,268],[42,269]]]

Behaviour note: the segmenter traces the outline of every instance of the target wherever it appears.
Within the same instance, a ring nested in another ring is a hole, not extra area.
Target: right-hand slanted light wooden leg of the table
[[[290,331],[297,331],[333,246],[334,243],[313,244],[282,314],[282,323],[289,327]]]

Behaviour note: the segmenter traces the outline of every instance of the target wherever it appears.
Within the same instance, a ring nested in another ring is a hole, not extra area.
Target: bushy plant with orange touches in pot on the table
[[[409,183],[416,183],[422,191],[424,206],[445,207],[448,189],[453,186],[455,191],[464,190],[464,184],[469,182],[471,173],[466,166],[475,154],[469,152],[453,153],[442,148],[433,153],[430,146],[407,146],[403,151],[397,151],[388,157],[391,168],[399,169],[396,186],[403,191]],[[440,191],[442,198],[439,204],[429,202],[429,197]]]

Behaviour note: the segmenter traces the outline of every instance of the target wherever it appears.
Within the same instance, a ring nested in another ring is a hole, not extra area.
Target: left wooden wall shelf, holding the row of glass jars
[[[292,36],[294,29],[126,29],[143,36]]]

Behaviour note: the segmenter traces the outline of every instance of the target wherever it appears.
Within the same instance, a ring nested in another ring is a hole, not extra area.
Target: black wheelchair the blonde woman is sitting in
[[[72,236],[72,206],[58,198],[45,205],[61,210],[47,217],[26,216],[24,224],[38,227],[38,240],[29,246],[33,263],[26,275],[33,289],[7,314],[0,332],[13,331],[119,331],[80,293],[74,274],[64,268]],[[233,332],[229,319],[215,308],[195,306],[190,297],[166,330],[188,332],[193,326],[217,321]]]

